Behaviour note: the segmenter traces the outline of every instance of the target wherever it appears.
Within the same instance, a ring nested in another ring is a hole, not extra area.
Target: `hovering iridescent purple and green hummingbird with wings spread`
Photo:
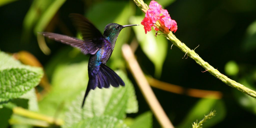
[[[39,33],[63,44],[79,48],[85,55],[90,54],[88,62],[89,81],[82,102],[83,108],[85,99],[90,90],[94,90],[96,87],[100,89],[109,88],[110,85],[113,87],[119,87],[119,85],[125,86],[125,83],[118,74],[106,66],[106,62],[109,60],[114,50],[115,42],[120,31],[125,27],[138,26],[138,24],[119,25],[110,23],[106,25],[102,35],[101,32],[83,15],[71,13],[69,17],[74,26],[76,26],[82,33],[83,40],[50,32]]]

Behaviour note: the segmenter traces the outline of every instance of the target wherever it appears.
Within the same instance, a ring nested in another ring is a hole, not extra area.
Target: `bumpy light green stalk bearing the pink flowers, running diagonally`
[[[143,0],[134,0],[134,2],[142,10],[142,12],[147,13],[147,10],[149,9],[149,7],[143,2]],[[152,16],[152,17],[154,17],[154,16]],[[148,21],[149,20],[147,20],[147,22]],[[144,25],[144,28],[145,27],[148,30],[149,27]],[[170,31],[170,29],[167,28],[166,23],[161,21],[161,19],[155,21],[155,23],[153,22],[153,27],[162,31],[165,34],[165,36],[167,37],[167,39],[173,43],[173,45],[177,46],[180,50],[182,50],[185,53],[185,56],[187,55],[188,57],[195,60],[198,65],[202,66],[206,71],[210,72],[213,76],[215,76],[216,78],[221,80],[223,83],[226,83],[230,87],[236,88],[237,90],[243,92],[244,94],[247,94],[253,98],[256,98],[255,91],[253,91],[253,90],[243,86],[242,84],[229,79],[227,76],[221,74],[217,69],[212,67],[206,61],[204,61],[194,50],[191,50],[190,48],[188,48],[184,43],[182,43],[178,38],[176,38],[175,35],[173,35],[172,31]]]

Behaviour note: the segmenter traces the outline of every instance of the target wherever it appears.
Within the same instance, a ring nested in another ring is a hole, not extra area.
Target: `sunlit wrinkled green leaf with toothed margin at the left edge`
[[[18,98],[40,82],[43,71],[25,66],[12,56],[0,52],[0,107],[10,99]]]

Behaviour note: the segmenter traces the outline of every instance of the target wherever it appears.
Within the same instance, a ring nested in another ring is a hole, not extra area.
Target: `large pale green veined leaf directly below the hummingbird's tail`
[[[81,104],[85,92],[82,91],[65,113],[66,117],[64,119],[65,124],[62,126],[63,128],[70,127],[86,118],[109,115],[123,119],[126,112],[131,113],[138,111],[137,100],[132,88],[133,85],[125,77],[124,73],[116,73],[123,79],[125,87],[114,88],[111,86],[108,89],[96,88],[90,91],[83,109],[81,109]]]

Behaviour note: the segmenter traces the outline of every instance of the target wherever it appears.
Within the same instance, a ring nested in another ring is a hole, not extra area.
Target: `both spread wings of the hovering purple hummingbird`
[[[71,13],[69,17],[77,29],[81,31],[83,40],[56,33],[42,32],[41,34],[63,44],[78,47],[83,54],[95,54],[106,42],[101,32],[81,14]]]

